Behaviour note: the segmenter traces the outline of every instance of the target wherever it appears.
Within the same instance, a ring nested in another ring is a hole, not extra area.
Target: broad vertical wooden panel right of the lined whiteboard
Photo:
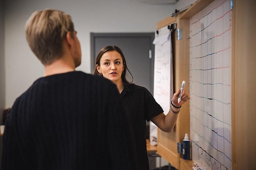
[[[256,169],[256,1],[232,11],[232,169]]]

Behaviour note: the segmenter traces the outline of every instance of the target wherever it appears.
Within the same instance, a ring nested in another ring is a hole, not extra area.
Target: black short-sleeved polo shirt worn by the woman
[[[142,86],[124,85],[121,92],[123,103],[130,123],[134,149],[134,157],[140,170],[148,170],[148,155],[146,151],[146,121],[163,113],[162,107],[155,101],[152,94]]]

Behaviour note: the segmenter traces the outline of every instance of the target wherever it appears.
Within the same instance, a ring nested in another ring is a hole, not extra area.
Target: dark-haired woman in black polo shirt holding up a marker
[[[172,132],[181,105],[190,97],[184,90],[178,104],[180,93],[180,90],[178,90],[173,95],[170,110],[165,116],[162,107],[146,88],[126,80],[126,71],[130,73],[123,52],[117,46],[106,46],[99,51],[96,57],[94,75],[101,75],[116,84],[128,114],[132,133],[132,139],[128,140],[133,145],[138,169],[148,170],[145,120],[152,121],[165,132]],[[132,75],[131,77],[133,78]]]

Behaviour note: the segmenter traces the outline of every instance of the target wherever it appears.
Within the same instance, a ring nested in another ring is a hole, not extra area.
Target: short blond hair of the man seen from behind
[[[74,31],[71,16],[53,9],[37,10],[26,22],[26,39],[30,49],[44,65],[62,56],[62,41]]]

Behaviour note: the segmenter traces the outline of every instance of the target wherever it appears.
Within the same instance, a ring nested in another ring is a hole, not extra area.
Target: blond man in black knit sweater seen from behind
[[[136,169],[116,86],[75,71],[81,63],[76,34],[71,17],[59,10],[39,10],[28,19],[26,39],[44,76],[12,106],[2,170]]]

